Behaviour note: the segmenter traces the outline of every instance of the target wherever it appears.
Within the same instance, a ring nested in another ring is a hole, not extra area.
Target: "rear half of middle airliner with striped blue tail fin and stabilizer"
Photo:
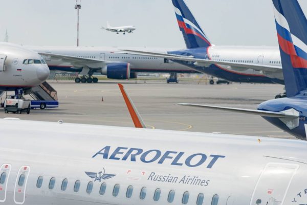
[[[183,0],[172,0],[187,49],[168,54],[126,49],[126,54],[162,57],[234,82],[283,84],[278,47],[214,46]]]

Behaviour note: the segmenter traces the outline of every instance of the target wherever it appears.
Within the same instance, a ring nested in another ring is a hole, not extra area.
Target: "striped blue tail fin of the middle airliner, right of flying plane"
[[[196,22],[185,2],[183,0],[172,0],[172,4],[187,48],[211,46],[208,37]]]

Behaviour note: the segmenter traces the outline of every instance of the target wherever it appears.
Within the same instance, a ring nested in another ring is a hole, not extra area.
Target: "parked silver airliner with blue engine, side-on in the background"
[[[116,47],[38,47],[27,46],[45,56],[50,70],[80,72],[76,83],[97,83],[94,72],[112,79],[136,78],[137,72],[199,73],[171,60],[139,55],[115,53]],[[140,48],[138,48],[140,49]],[[143,48],[143,51],[165,52],[168,49]]]

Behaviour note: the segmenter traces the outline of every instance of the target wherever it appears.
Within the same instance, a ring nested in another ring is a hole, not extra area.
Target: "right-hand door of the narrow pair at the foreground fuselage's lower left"
[[[14,202],[16,204],[25,203],[26,188],[27,188],[29,174],[30,174],[30,167],[28,166],[20,167],[14,188]]]

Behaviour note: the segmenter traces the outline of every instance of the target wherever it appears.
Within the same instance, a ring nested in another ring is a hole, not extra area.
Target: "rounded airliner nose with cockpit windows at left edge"
[[[39,54],[19,45],[0,43],[0,95],[18,89],[30,92],[48,77],[49,68]]]

